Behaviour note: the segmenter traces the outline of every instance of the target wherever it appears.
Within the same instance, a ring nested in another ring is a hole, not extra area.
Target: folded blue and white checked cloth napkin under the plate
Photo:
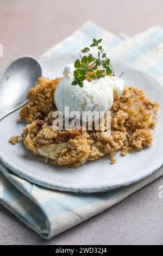
[[[163,57],[159,57],[163,29],[160,27],[152,27],[129,38],[125,34],[111,34],[89,21],[41,57],[72,50],[79,52],[90,44],[92,38],[103,38],[104,49],[111,57],[133,63],[137,68],[150,72],[163,84]],[[99,214],[163,175],[163,168],[160,168],[146,179],[124,188],[104,193],[75,194],[32,184],[1,163],[0,170],[1,204],[45,239]]]

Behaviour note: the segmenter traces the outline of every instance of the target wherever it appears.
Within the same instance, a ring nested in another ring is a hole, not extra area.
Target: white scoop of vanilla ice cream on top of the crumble
[[[114,92],[122,95],[124,81],[115,76],[105,76],[91,82],[84,80],[83,87],[72,86],[74,65],[65,66],[64,77],[61,78],[54,93],[55,105],[58,111],[65,113],[78,111],[109,111],[114,100]]]

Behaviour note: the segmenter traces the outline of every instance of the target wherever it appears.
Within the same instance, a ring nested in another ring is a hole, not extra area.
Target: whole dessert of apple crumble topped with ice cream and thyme
[[[159,104],[148,99],[143,90],[124,86],[124,81],[115,76],[101,41],[93,39],[90,45],[98,48],[98,58],[92,57],[85,47],[80,56],[88,55],[66,65],[64,77],[40,77],[27,94],[28,103],[20,111],[20,121],[29,123],[23,130],[22,141],[35,155],[45,157],[46,163],[78,167],[104,155],[115,163],[118,151],[125,156],[152,145]],[[103,112],[103,125],[98,130],[94,126],[89,129],[87,122],[83,129],[80,119],[79,129],[65,129],[65,107],[80,115]],[[62,113],[62,129],[54,129],[55,111]],[[110,131],[106,129],[108,111]],[[10,142],[15,144],[16,140],[12,137]]]

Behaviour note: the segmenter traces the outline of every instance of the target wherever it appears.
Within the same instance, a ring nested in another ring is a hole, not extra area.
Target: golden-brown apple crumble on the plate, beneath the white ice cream
[[[45,157],[46,163],[78,167],[107,154],[115,163],[118,151],[125,156],[152,145],[159,105],[147,99],[143,90],[130,86],[124,87],[121,96],[114,94],[110,133],[103,129],[55,131],[52,112],[57,109],[54,92],[59,81],[39,78],[27,94],[28,104],[20,111],[20,120],[29,123],[22,141],[35,155]]]

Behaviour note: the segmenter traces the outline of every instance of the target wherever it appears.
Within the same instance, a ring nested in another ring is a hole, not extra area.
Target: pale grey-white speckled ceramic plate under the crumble
[[[55,56],[41,60],[43,75],[61,76],[66,63],[73,62],[75,56]],[[20,135],[24,124],[17,123],[18,111],[8,115],[0,122],[0,159],[12,172],[31,182],[71,192],[102,192],[127,186],[155,172],[163,164],[163,89],[161,85],[142,71],[128,64],[115,61],[116,74],[124,71],[127,84],[145,90],[147,96],[160,103],[158,123],[154,129],[153,146],[140,153],[125,157],[117,154],[116,164],[110,165],[108,156],[87,162],[78,169],[55,167],[45,164],[41,157],[33,156],[21,143],[12,146],[8,139]]]

